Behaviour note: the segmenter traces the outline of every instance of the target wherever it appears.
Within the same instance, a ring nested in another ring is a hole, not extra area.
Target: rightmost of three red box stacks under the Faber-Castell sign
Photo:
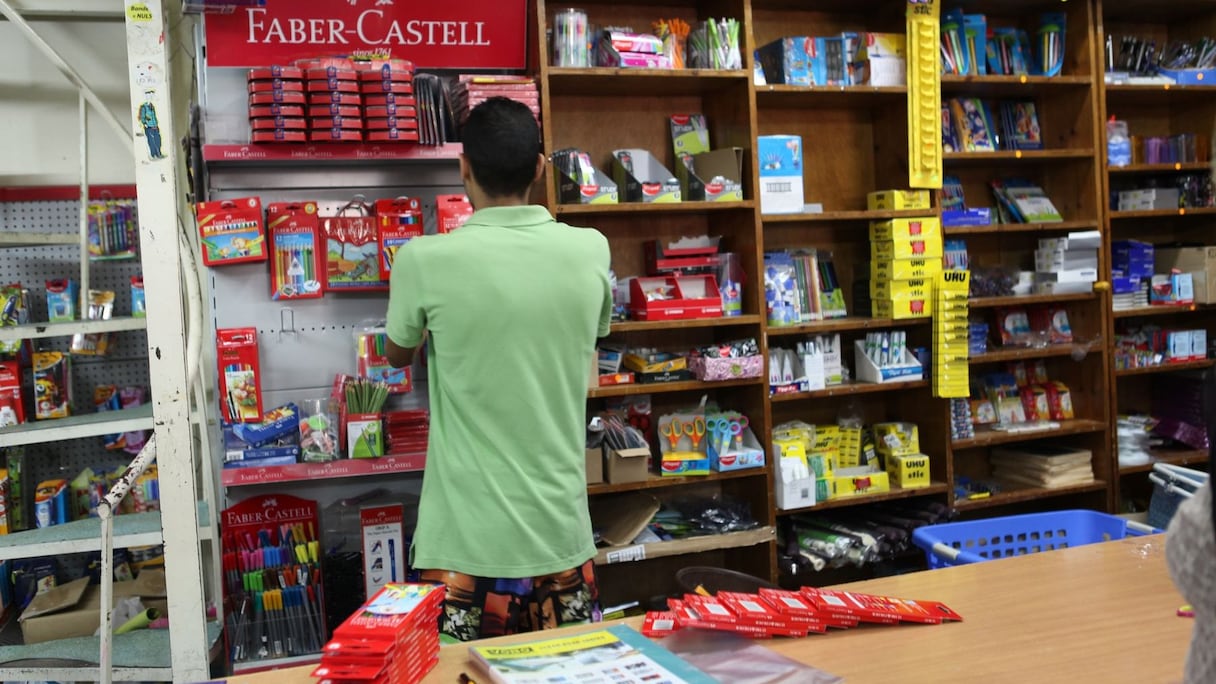
[[[413,62],[365,62],[359,72],[367,117],[368,142],[417,142],[418,114],[413,97]]]

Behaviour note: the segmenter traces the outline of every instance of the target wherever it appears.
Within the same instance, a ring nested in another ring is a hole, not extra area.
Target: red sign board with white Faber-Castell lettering
[[[207,63],[388,54],[418,67],[523,69],[527,22],[527,0],[266,0],[207,16]]]

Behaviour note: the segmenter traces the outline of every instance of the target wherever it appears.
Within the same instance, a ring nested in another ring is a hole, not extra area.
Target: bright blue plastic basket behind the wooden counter
[[[927,525],[912,533],[930,568],[1155,534],[1155,527],[1087,510]]]

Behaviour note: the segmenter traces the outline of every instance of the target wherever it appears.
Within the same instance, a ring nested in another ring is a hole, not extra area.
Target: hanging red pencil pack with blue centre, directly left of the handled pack
[[[274,209],[274,211],[271,211]],[[325,293],[321,222],[315,202],[280,202],[266,213],[270,298],[316,299]]]

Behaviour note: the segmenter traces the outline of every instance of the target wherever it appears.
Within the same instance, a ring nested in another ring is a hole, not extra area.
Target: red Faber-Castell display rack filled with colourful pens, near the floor
[[[254,497],[226,509],[223,521],[232,662],[321,652],[327,629],[316,501]]]

